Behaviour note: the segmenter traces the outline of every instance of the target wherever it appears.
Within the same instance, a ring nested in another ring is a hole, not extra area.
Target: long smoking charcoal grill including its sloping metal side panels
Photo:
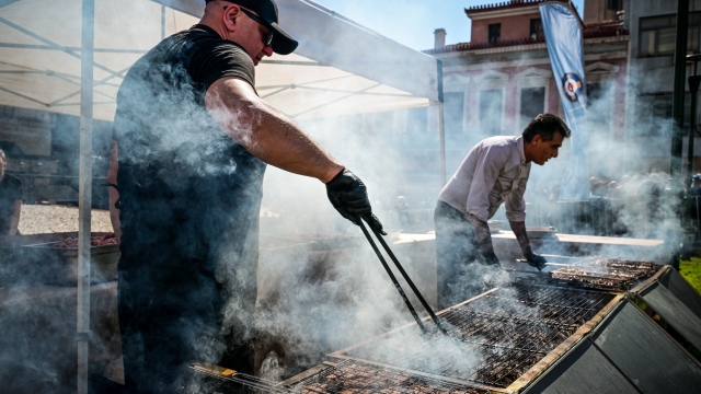
[[[673,312],[701,304],[698,293],[696,303],[674,298],[679,275],[669,266],[596,257],[567,268],[585,266],[590,278],[611,275],[620,282],[595,287],[531,273],[539,282],[517,281],[439,312],[450,339],[437,331],[422,336],[417,324],[407,324],[331,354],[323,366],[286,382],[302,393],[694,392],[699,358],[664,327],[676,324],[691,344],[693,312],[685,318]],[[659,303],[655,312],[667,323],[636,306],[647,298]],[[450,340],[474,362],[451,362]]]

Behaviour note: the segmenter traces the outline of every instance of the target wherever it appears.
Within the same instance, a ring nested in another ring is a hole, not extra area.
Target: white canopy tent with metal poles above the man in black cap
[[[113,119],[129,67],[164,36],[195,24],[204,3],[0,0],[0,105],[81,117],[79,393],[87,393],[90,334],[92,119]],[[440,61],[312,1],[277,4],[279,24],[300,45],[256,67],[258,94],[296,119],[439,105],[445,182]]]

